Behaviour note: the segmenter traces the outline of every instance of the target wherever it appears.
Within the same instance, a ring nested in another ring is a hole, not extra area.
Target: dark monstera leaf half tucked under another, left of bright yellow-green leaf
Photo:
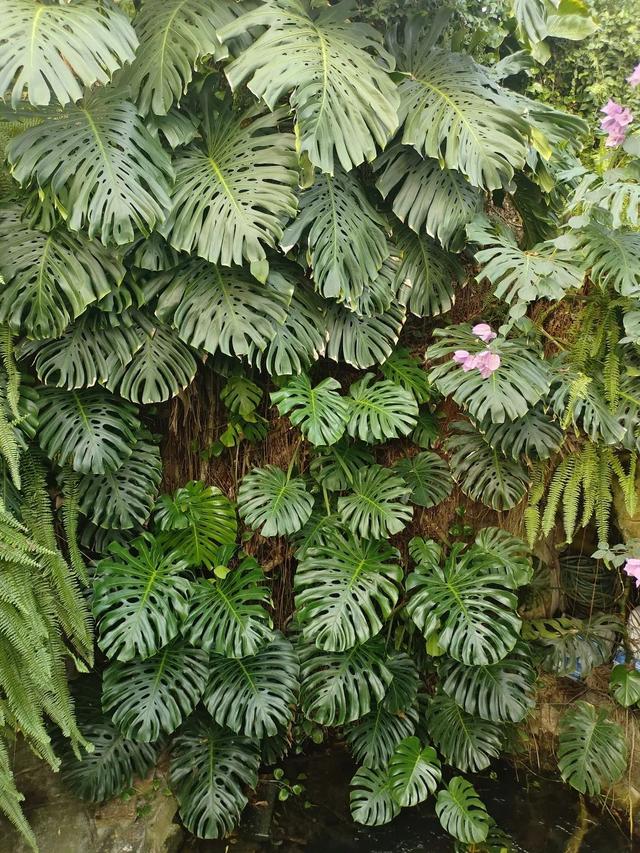
[[[78,509],[97,527],[130,530],[149,519],[161,479],[160,448],[143,434],[117,471],[80,478]]]

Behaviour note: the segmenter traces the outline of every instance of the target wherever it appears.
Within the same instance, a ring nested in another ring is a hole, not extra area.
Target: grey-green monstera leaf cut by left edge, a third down
[[[124,267],[98,242],[62,229],[45,234],[20,217],[17,207],[0,210],[0,322],[28,338],[56,338],[120,284]]]

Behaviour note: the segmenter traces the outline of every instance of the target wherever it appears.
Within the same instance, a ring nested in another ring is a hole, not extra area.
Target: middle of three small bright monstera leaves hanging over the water
[[[389,761],[389,778],[394,800],[402,808],[417,806],[440,784],[440,761],[432,746],[421,746],[417,737],[407,737]]]

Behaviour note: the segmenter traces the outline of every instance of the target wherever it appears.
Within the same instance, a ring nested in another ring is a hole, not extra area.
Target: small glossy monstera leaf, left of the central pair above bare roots
[[[289,420],[314,445],[331,445],[338,441],[347,426],[348,405],[337,393],[337,379],[323,379],[315,388],[303,374],[291,379],[283,389],[271,394],[281,415]]]

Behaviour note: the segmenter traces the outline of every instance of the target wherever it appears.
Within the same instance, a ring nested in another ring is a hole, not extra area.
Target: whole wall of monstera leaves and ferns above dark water
[[[432,798],[494,843],[465,774],[541,672],[623,641],[638,125],[609,106],[587,167],[594,129],[523,93],[594,32],[580,3],[516,0],[475,40],[469,9],[0,0],[0,808],[34,848],[16,733],[94,801],[168,753],[184,825],[215,838],[261,766],[332,729],[356,821]],[[157,425],[196,374],[225,413],[206,452],[237,471],[277,421],[283,465],[162,493]],[[532,549],[591,529],[550,607]],[[270,549],[293,555],[286,618]],[[616,667],[621,705],[639,681]],[[622,729],[577,702],[558,765],[606,790]]]

